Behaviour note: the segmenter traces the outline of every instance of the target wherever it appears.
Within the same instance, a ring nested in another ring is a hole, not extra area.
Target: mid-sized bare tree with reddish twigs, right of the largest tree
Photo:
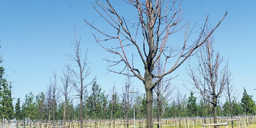
[[[207,36],[207,35],[205,35]],[[222,57],[213,50],[213,37],[207,38],[204,47],[197,55],[199,65],[195,70],[189,64],[192,84],[207,102],[213,105],[214,123],[217,123],[217,99],[227,83],[227,65],[221,67]]]

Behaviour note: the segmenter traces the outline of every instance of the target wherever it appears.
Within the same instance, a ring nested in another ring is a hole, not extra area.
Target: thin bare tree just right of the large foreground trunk
[[[159,62],[157,64],[156,70],[154,70],[154,74],[161,75],[164,68],[162,65],[162,62]],[[161,81],[159,81],[156,84],[156,87],[154,88],[154,101],[157,104],[157,122],[160,122],[160,118],[162,113],[160,113],[160,106],[162,106],[165,102],[169,102],[171,100],[170,95],[172,94],[173,90],[175,89],[174,86],[171,84],[171,77],[166,78],[163,77]],[[157,79],[153,79],[153,81],[156,81]],[[157,128],[159,128],[159,124],[157,124]]]

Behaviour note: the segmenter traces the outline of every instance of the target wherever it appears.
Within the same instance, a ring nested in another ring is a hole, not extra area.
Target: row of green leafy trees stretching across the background
[[[85,103],[83,105],[83,119],[133,119],[133,107],[135,109],[136,119],[145,119],[145,94],[139,92],[134,96],[133,103],[125,103],[122,94],[117,92],[105,94],[101,87],[93,83],[91,94],[85,96]],[[15,114],[6,117],[12,119],[15,117],[17,120],[31,119],[31,120],[53,120],[53,111],[55,110],[55,120],[63,119],[64,102],[58,103],[54,108],[49,107],[46,101],[46,95],[39,93],[34,96],[32,93],[26,95],[25,102],[20,105],[20,99],[17,99],[15,105]],[[233,101],[233,115],[255,115],[256,106],[252,96],[248,95],[244,89],[243,97],[240,102]],[[20,107],[21,106],[21,107]],[[218,116],[230,116],[230,103],[228,100],[222,105],[218,103],[217,114]],[[127,111],[127,109],[129,109]],[[154,104],[154,118],[157,118],[157,104]],[[160,115],[162,118],[179,118],[179,117],[211,117],[213,116],[213,106],[206,102],[203,98],[197,99],[194,93],[186,98],[183,96],[181,102],[173,99],[171,102],[164,102],[160,105]],[[66,120],[79,120],[80,105],[72,99],[67,100]]]

